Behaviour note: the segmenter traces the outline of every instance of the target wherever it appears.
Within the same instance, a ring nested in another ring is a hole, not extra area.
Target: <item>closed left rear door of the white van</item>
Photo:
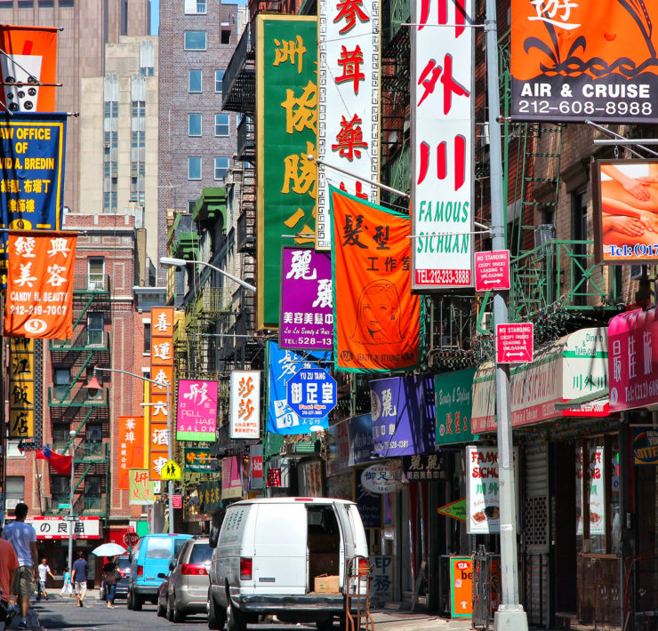
[[[253,584],[257,594],[306,592],[306,505],[254,504]],[[246,554],[243,549],[243,555]]]

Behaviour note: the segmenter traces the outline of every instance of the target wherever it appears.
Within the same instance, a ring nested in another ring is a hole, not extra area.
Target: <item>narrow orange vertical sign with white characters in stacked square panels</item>
[[[173,392],[173,307],[151,309],[151,379],[157,384],[150,384],[148,402],[148,471],[151,480],[162,480],[172,440],[168,403],[172,403]]]

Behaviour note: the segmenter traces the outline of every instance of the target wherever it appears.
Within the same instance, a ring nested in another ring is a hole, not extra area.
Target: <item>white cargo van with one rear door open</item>
[[[367,556],[357,505],[344,499],[239,501],[226,509],[219,536],[211,531],[210,545],[208,627],[228,622],[229,631],[245,631],[259,615],[325,631],[344,613],[346,563]],[[340,591],[314,591],[325,574],[339,577]]]

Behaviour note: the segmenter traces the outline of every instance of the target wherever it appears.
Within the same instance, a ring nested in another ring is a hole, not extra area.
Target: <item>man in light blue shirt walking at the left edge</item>
[[[9,541],[19,561],[18,576],[14,579],[13,593],[20,603],[20,629],[28,628],[29,599],[35,593],[36,566],[36,530],[25,523],[28,516],[28,505],[19,502],[13,509],[16,519],[4,526],[3,539]]]

